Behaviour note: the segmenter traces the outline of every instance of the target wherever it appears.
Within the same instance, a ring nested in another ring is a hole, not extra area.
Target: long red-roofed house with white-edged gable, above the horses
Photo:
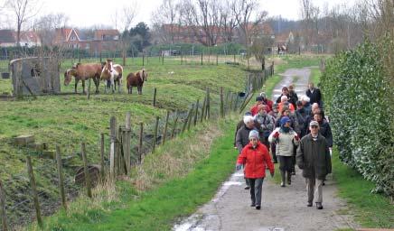
[[[117,30],[95,30],[93,34],[76,28],[56,29],[55,45],[68,49],[86,50],[90,53],[117,51],[120,45],[120,32]]]

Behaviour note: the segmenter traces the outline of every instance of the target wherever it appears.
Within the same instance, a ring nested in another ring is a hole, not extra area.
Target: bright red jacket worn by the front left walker
[[[237,163],[245,164],[246,178],[264,178],[266,177],[266,166],[271,173],[274,172],[274,164],[271,162],[271,157],[267,147],[258,142],[256,149],[248,143],[240,153]]]

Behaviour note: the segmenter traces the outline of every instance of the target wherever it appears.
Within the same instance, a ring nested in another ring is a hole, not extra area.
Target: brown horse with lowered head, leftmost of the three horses
[[[82,80],[83,93],[85,94],[85,80],[93,79],[96,85],[96,93],[98,93],[99,77],[101,74],[102,65],[99,63],[76,63],[71,69],[64,72],[64,85],[68,86],[71,77],[75,78],[75,93],[77,93],[78,82]]]

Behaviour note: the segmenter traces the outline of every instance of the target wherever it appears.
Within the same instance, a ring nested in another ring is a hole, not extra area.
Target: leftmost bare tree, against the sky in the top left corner
[[[40,0],[8,0],[9,7],[16,17],[16,45],[21,45],[21,30],[23,23],[31,20],[41,8]]]

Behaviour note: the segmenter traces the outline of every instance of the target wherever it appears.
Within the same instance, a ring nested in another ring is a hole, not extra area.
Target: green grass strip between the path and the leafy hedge
[[[394,206],[389,198],[371,193],[374,184],[364,180],[361,174],[344,165],[333,151],[333,180],[339,196],[352,208],[352,214],[362,227],[394,228]]]

